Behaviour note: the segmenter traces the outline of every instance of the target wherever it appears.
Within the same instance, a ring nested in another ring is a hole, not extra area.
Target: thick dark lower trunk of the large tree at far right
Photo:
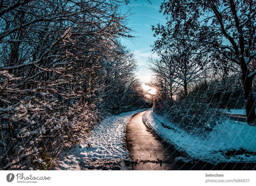
[[[253,99],[253,90],[252,90],[252,79],[248,77],[244,77],[244,99],[245,99],[245,109],[247,116],[247,123],[254,125],[256,120],[256,114],[254,109],[254,99]]]

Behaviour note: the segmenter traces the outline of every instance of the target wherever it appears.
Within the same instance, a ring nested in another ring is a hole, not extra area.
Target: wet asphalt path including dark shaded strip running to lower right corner
[[[126,127],[128,151],[132,159],[133,170],[255,170],[254,163],[221,163],[193,160],[179,162],[175,158],[188,157],[186,152],[177,151],[172,144],[166,143],[154,131],[142,122],[142,115],[135,114]]]

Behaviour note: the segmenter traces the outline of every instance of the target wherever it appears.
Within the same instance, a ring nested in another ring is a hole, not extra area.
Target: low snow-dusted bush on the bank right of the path
[[[156,104],[154,111],[190,134],[204,136],[225,118],[217,105],[206,103],[203,94],[190,93],[160,104]]]

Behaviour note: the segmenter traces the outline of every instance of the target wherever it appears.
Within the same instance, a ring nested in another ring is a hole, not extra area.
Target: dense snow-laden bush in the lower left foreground
[[[0,108],[1,168],[52,168],[61,148],[80,141],[99,113],[94,104],[64,105],[48,91],[24,93],[12,93],[16,103]]]

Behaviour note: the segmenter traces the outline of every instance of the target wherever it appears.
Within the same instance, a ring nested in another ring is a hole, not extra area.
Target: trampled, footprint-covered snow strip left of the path
[[[77,144],[66,154],[62,153],[56,169],[131,170],[129,152],[125,146],[125,133],[126,124],[135,113],[137,112],[124,112],[100,122],[84,142]],[[88,143],[92,146],[88,146]]]

